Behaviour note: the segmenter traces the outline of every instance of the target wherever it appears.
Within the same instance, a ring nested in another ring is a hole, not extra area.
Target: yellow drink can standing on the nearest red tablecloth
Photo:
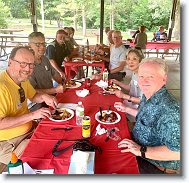
[[[91,136],[91,119],[89,116],[84,116],[82,120],[82,136],[88,138]]]

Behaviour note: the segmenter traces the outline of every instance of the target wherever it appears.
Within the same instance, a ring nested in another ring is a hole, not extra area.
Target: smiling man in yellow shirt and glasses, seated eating
[[[33,131],[32,120],[51,115],[48,108],[29,112],[27,99],[44,102],[55,108],[57,100],[47,94],[36,93],[28,78],[33,72],[34,54],[29,47],[13,48],[7,70],[0,74],[0,173],[14,151],[23,152]]]

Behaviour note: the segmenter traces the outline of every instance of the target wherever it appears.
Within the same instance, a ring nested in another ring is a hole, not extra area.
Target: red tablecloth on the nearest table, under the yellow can
[[[83,86],[77,89],[81,89]],[[63,94],[58,94],[57,99],[61,103],[77,103],[82,101],[85,107],[85,115],[91,117],[91,138],[90,141],[94,145],[98,145],[102,148],[102,154],[96,152],[95,154],[95,174],[138,174],[138,165],[135,155],[132,153],[121,153],[117,144],[120,141],[114,141],[109,139],[105,142],[106,134],[97,135],[96,126],[99,124],[95,119],[96,112],[99,111],[99,107],[107,109],[108,105],[113,107],[114,102],[121,101],[115,95],[103,95],[99,94],[99,87],[94,85],[90,87],[90,95],[85,98],[80,98],[75,94],[77,89],[67,89]],[[120,113],[121,121],[116,124],[103,125],[104,128],[117,127],[119,136],[121,139],[130,138],[130,132],[124,113]],[[52,131],[54,127],[66,127],[72,126],[73,130],[64,131]],[[63,154],[55,157],[52,155],[52,150],[57,140],[63,139],[63,142],[59,146],[60,149],[72,144],[74,140],[82,138],[81,126],[75,124],[75,116],[66,122],[53,122],[49,119],[42,120],[36,131],[34,132],[29,144],[23,152],[21,159],[27,162],[34,169],[54,169],[55,174],[67,174],[70,165],[70,156],[72,155],[72,149],[64,152]],[[71,140],[71,141],[70,141]]]

